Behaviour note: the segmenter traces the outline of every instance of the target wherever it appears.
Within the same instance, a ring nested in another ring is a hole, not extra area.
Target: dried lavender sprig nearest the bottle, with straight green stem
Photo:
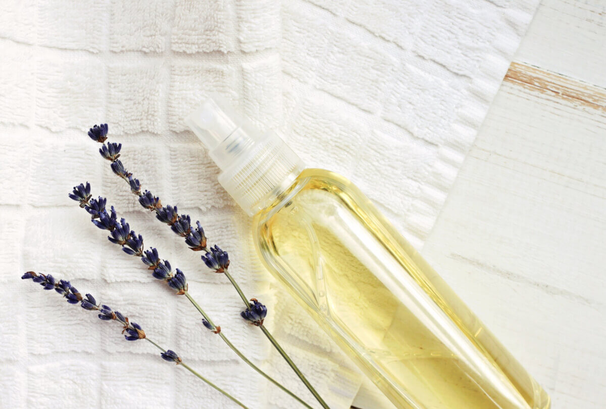
[[[99,143],[104,143],[107,140],[107,124],[105,124],[105,134],[102,138],[96,140]],[[89,134],[90,136],[90,134]],[[95,138],[91,137],[92,140]],[[156,219],[165,223],[170,227],[170,229],[175,232],[176,235],[179,235],[184,238],[184,242],[187,246],[193,251],[203,251],[204,255],[201,256],[202,262],[216,273],[222,273],[227,277],[230,281],[233,288],[238,292],[238,296],[244,302],[245,310],[242,311],[241,316],[245,320],[248,320],[251,325],[258,326],[265,337],[271,342],[271,344],[276,348],[276,350],[281,354],[284,360],[290,365],[293,371],[297,374],[301,382],[307,387],[307,389],[313,394],[319,404],[322,405],[324,409],[330,409],[324,399],[318,394],[318,391],[310,384],[305,375],[299,370],[296,366],[295,362],[288,356],[284,348],[279,345],[278,341],[271,335],[270,331],[263,325],[265,316],[267,316],[267,308],[262,305],[256,299],[248,299],[242,291],[241,287],[238,285],[236,280],[228,271],[228,266],[230,263],[229,256],[226,251],[223,251],[219,248],[218,245],[212,246],[210,248],[207,247],[207,237],[204,234],[204,229],[202,228],[199,221],[196,221],[196,226],[191,224],[191,218],[189,215],[179,215],[177,206],[163,206],[159,197],[153,195],[152,192],[145,190],[141,191],[141,183],[138,179],[134,178],[132,173],[126,171],[124,168],[124,164],[117,157],[112,158],[110,155],[105,154],[105,150],[109,148],[103,145],[99,152],[101,152],[101,156],[110,161],[110,167],[112,171],[124,181],[128,183],[130,186],[130,191],[135,194],[139,198],[139,204],[150,212],[155,212]],[[116,148],[117,147],[117,148]],[[122,144],[113,143],[113,152],[115,155],[119,154],[119,151],[122,147]],[[119,156],[119,155],[118,155]],[[75,200],[78,200],[75,198]],[[82,205],[81,205],[82,206]]]

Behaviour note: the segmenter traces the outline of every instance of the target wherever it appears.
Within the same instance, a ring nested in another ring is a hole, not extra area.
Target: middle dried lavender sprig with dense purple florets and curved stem
[[[80,194],[79,192],[82,192]],[[211,332],[218,334],[219,337],[225,342],[225,344],[241,357],[244,362],[250,365],[253,370],[257,371],[265,379],[276,385],[282,391],[296,399],[299,403],[312,409],[305,401],[300,397],[296,396],[293,392],[285,388],[277,380],[273,379],[267,373],[257,367],[255,363],[251,362],[233,343],[221,332],[221,326],[215,325],[213,320],[208,314],[201,308],[201,306],[191,297],[188,290],[187,279],[185,274],[178,268],[171,266],[168,260],[161,259],[158,250],[156,248],[144,249],[143,237],[141,234],[137,234],[135,231],[130,229],[128,222],[121,218],[118,221],[118,215],[116,209],[111,206],[108,210],[105,208],[107,199],[99,196],[97,199],[92,199],[90,196],[90,184],[79,184],[73,188],[72,194],[69,195],[75,201],[81,203],[81,207],[88,212],[91,217],[92,223],[99,229],[107,230],[109,232],[108,240],[116,245],[121,246],[122,251],[133,257],[138,257],[141,262],[147,267],[148,271],[151,272],[151,276],[155,279],[164,281],[171,289],[176,291],[177,295],[183,295],[191,302],[193,306],[202,314],[202,324]],[[82,200],[82,197],[87,198],[86,201]],[[84,206],[82,206],[84,203]]]

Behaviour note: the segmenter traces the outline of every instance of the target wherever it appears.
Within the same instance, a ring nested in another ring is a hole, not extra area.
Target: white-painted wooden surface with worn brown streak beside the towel
[[[606,2],[544,0],[423,249],[555,409],[606,407],[605,86]]]

